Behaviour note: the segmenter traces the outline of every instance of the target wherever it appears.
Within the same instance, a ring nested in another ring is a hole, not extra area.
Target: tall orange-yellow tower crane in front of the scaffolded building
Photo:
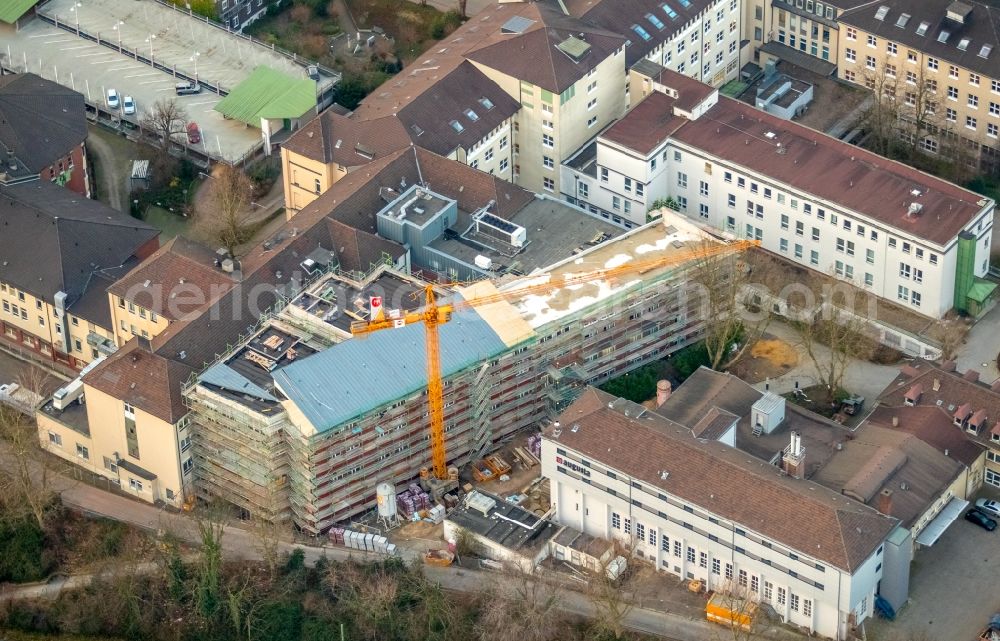
[[[568,285],[643,274],[654,269],[683,264],[691,260],[735,254],[759,244],[759,241],[740,240],[728,244],[699,246],[673,252],[669,256],[629,262],[610,269],[595,269],[566,276],[553,276],[544,283],[514,287],[495,294],[443,304],[437,302],[434,286],[427,285],[424,287],[424,306],[422,309],[398,316],[386,316],[380,309],[376,316],[370,320],[352,322],[351,334],[360,337],[383,329],[405,327],[415,323],[424,324],[427,335],[427,404],[430,416],[431,469],[435,477],[446,480],[448,478],[448,460],[444,441],[444,394],[441,382],[441,337],[438,333],[438,327],[451,320],[454,311],[472,309],[480,305],[516,299],[529,294],[544,294]]]

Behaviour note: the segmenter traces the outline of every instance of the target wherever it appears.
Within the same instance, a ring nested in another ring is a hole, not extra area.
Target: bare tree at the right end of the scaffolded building
[[[710,243],[706,241],[707,249]],[[773,262],[763,253],[705,253],[690,267],[690,281],[700,290],[705,349],[712,369],[738,361],[764,334],[771,320],[753,283],[767,280]]]

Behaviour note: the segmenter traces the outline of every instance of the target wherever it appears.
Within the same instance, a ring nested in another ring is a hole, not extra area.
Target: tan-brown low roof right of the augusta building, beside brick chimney
[[[887,466],[883,461],[880,467],[873,467],[880,456],[892,457],[895,464]],[[864,478],[869,482],[865,502],[876,509],[881,491],[892,490],[890,514],[910,527],[962,470],[961,463],[907,432],[866,425],[843,441],[811,480],[846,493]]]

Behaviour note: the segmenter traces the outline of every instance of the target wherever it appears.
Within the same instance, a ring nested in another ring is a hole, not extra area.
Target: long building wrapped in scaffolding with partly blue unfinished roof
[[[668,214],[530,276],[441,289],[465,301],[439,328],[448,464],[550,419],[584,383],[695,340],[683,265],[563,283],[704,242]],[[425,330],[349,330],[371,317],[372,297],[405,312],[422,286],[389,267],[363,281],[324,274],[193,379],[184,394],[199,426],[200,495],[319,533],[373,508],[378,483],[417,477],[430,459]]]

